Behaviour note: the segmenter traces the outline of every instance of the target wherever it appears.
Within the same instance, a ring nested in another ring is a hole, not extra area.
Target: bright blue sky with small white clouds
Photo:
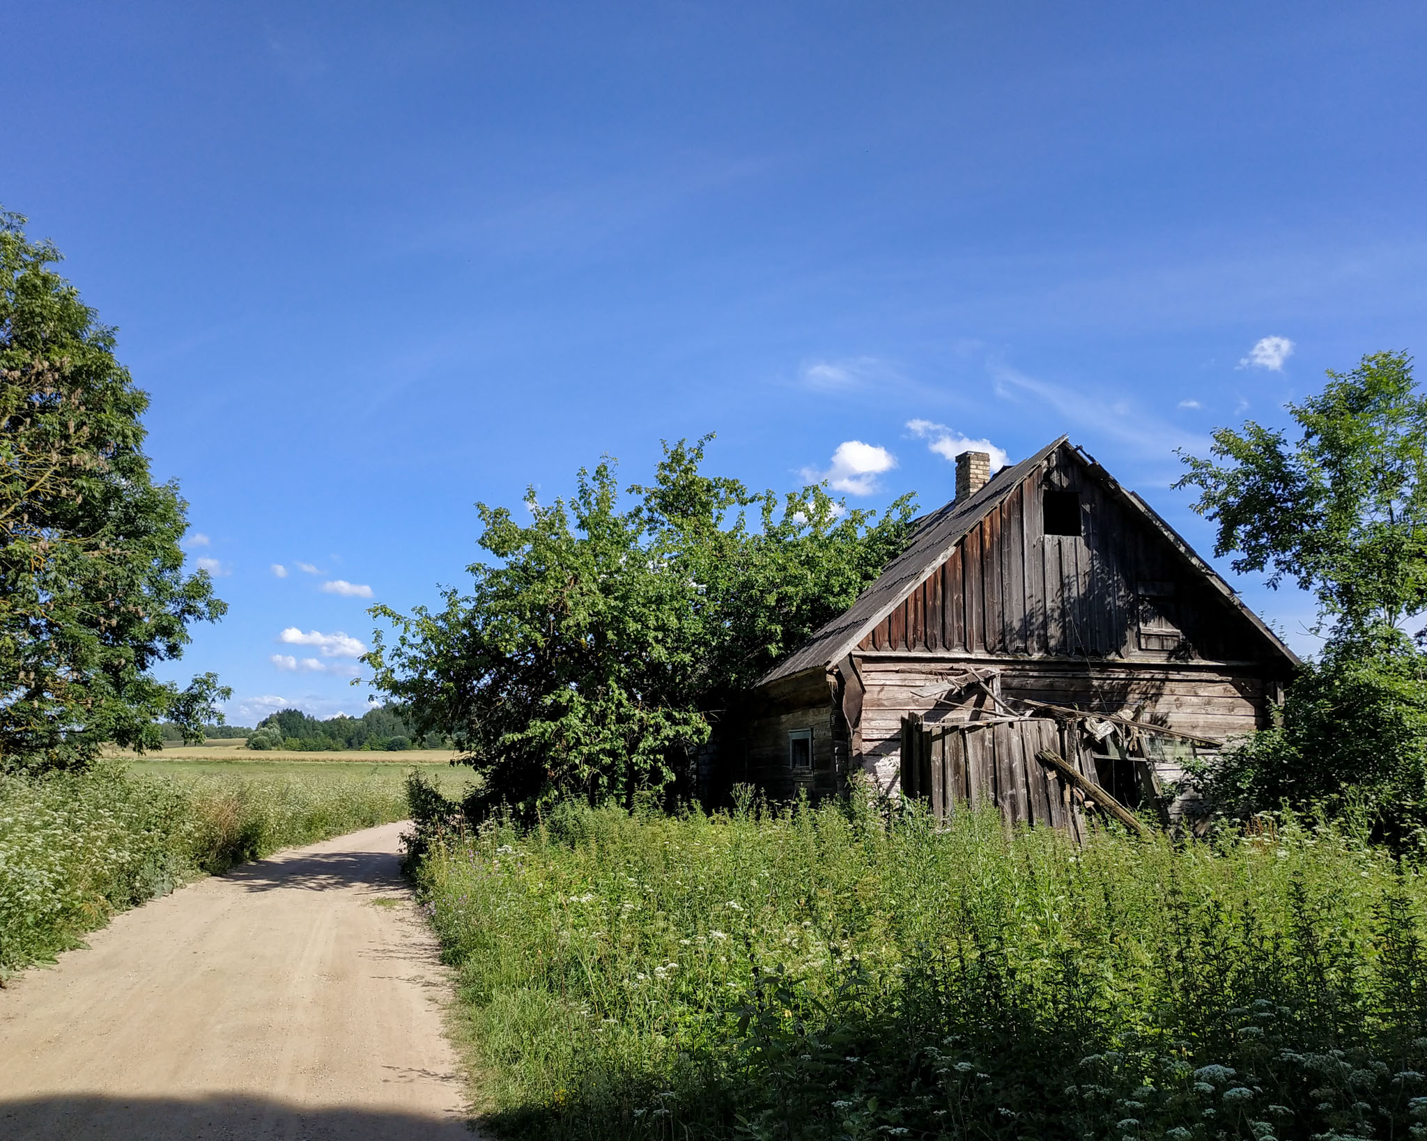
[[[879,506],[950,498],[960,438],[1069,432],[1209,553],[1174,448],[1427,344],[1424,31],[1411,3],[11,6],[0,204],[118,327],[207,539],[230,612],[173,676],[218,670],[238,723],[354,713],[365,608],[459,585],[477,499],[604,452],[634,482],[661,438]],[[1313,649],[1301,598],[1237,585]]]

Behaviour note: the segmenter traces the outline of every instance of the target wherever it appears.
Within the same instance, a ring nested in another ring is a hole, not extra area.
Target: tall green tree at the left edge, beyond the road
[[[211,673],[153,676],[224,603],[184,572],[187,503],[154,483],[148,398],[114,331],[0,213],[0,764],[83,764],[101,743],[158,747],[158,719],[221,720]]]

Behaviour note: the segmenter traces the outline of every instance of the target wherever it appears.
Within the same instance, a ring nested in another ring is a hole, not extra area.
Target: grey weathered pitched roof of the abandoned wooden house
[[[886,565],[878,580],[863,590],[849,609],[823,625],[802,646],[768,670],[756,685],[765,686],[809,669],[826,669],[833,662],[846,656],[866,638],[873,626],[912,593],[912,589],[919,582],[952,556],[956,543],[962,541],[968,531],[976,526],[992,508],[1010,495],[1012,488],[1030,475],[1046,456],[1063,444],[1069,444],[1069,436],[1060,436],[1019,464],[1002,468],[990,478],[990,482],[968,499],[952,501],[925,516],[912,533],[906,549]],[[1279,640],[1277,635],[1263,623],[1263,619],[1239,600],[1239,596],[1234,595],[1229,583],[1209,563],[1200,559],[1139,495],[1122,488],[1092,456],[1082,452],[1080,459],[1090,469],[1092,475],[1106,483],[1107,489],[1116,493],[1122,502],[1140,511],[1154,529],[1160,531],[1196,570],[1209,578],[1226,596],[1229,603],[1243,613],[1259,633],[1271,643],[1273,649],[1281,653],[1290,663],[1299,665],[1297,655]]]

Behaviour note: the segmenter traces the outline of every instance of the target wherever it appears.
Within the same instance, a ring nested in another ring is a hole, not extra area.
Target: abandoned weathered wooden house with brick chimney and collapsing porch
[[[1065,436],[995,476],[965,452],[956,499],[731,710],[714,776],[818,797],[860,770],[1079,834],[1087,803],[1166,816],[1186,757],[1266,726],[1297,665]]]

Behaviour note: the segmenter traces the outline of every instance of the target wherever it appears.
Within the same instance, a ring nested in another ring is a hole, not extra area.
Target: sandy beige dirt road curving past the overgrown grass
[[[203,880],[0,990],[0,1137],[468,1140],[400,830]]]

